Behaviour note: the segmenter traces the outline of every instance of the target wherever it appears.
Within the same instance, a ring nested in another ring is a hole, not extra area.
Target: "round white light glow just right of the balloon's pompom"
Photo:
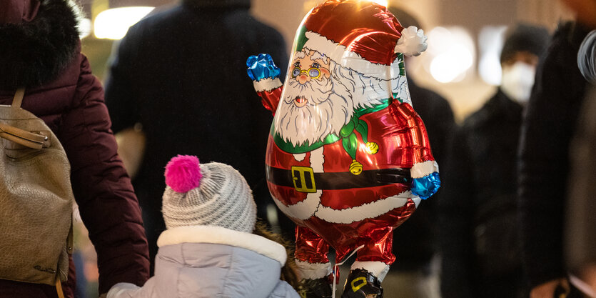
[[[428,71],[441,83],[462,81],[474,64],[474,43],[468,31],[436,27],[428,34]]]

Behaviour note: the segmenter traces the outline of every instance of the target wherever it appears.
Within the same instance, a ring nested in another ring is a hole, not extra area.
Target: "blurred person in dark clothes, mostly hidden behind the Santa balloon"
[[[425,29],[420,22],[398,7],[389,7],[404,27],[416,26]],[[405,57],[405,67],[413,65],[415,57]],[[423,119],[428,132],[428,139],[433,144],[433,155],[440,167],[445,162],[445,149],[450,130],[455,126],[453,111],[443,96],[425,89],[415,83],[411,71],[408,71],[408,86],[412,105]],[[441,171],[441,178],[445,177]],[[397,257],[385,277],[385,292],[400,293],[403,298],[439,297],[438,269],[433,267],[433,259],[438,252],[436,205],[441,200],[442,191],[426,200],[420,209],[399,229],[393,232],[393,253]],[[436,267],[436,266],[435,266]]]

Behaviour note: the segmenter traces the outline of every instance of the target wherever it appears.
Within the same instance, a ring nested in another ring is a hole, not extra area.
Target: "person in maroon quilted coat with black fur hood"
[[[99,293],[106,293],[118,282],[146,282],[148,246],[101,83],[81,54],[76,19],[69,0],[0,2],[0,104],[11,104],[24,86],[21,107],[43,119],[64,146],[74,196],[98,255]],[[66,297],[74,297],[74,277],[71,261],[62,285]],[[56,289],[0,279],[0,297],[49,298]]]

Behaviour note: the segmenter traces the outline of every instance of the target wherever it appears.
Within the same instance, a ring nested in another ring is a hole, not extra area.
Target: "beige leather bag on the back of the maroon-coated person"
[[[56,285],[72,252],[70,164],[43,120],[0,105],[0,279]],[[61,296],[62,297],[62,296]]]

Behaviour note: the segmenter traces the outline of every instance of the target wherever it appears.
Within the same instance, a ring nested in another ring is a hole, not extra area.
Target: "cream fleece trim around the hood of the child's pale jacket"
[[[238,232],[215,226],[184,226],[166,229],[157,239],[157,246],[181,243],[211,243],[225,244],[233,247],[249,249],[265,257],[275,259],[281,266],[286,264],[288,254],[286,248],[277,242],[263,238],[256,234]]]

